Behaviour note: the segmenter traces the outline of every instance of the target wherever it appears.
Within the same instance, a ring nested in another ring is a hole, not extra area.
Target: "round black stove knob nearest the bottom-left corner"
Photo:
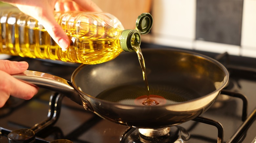
[[[8,143],[33,143],[35,133],[30,129],[18,129],[8,134]]]

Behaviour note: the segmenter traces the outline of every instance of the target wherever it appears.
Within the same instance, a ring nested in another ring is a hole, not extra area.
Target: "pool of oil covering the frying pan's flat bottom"
[[[167,83],[150,83],[151,101],[154,105],[175,104],[201,97],[192,89]],[[101,92],[97,98],[125,105],[145,105],[147,91],[143,83],[114,87]],[[148,103],[146,103],[148,105]],[[150,106],[150,105],[148,105]]]

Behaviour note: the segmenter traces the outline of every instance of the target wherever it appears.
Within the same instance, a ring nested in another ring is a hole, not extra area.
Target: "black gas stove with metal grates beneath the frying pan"
[[[170,48],[142,43],[141,48],[144,47]],[[0,143],[7,143],[8,137],[22,138],[22,134],[26,134],[23,136],[28,142],[35,140],[36,143],[256,142],[256,59],[228,53],[194,52],[217,59],[230,74],[228,85],[200,117],[167,129],[139,131],[104,120],[62,94],[39,89],[31,100],[11,97],[0,108]],[[9,60],[27,61],[29,70],[50,73],[69,81],[79,66],[22,57],[10,57]],[[164,135],[147,135],[159,133]]]

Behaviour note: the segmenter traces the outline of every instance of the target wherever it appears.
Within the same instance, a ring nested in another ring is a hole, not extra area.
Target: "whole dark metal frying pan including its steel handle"
[[[81,65],[74,71],[72,83],[37,71],[13,76],[64,94],[103,119],[151,129],[196,118],[214,103],[227,84],[228,71],[210,57],[176,49],[142,49],[142,54],[149,90],[168,99],[163,104],[146,106],[133,102],[145,92],[136,53],[122,52],[109,62]]]

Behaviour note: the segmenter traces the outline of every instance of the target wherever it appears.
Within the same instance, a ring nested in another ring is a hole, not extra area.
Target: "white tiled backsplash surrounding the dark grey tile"
[[[256,0],[244,0],[241,46],[195,40],[196,0],[153,0],[154,24],[142,41],[256,58]]]

